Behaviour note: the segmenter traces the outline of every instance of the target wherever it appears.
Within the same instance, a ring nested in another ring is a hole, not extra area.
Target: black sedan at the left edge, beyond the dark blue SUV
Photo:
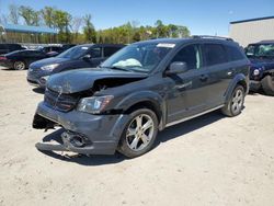
[[[24,70],[28,68],[32,62],[55,55],[56,54],[50,53],[46,54],[41,49],[15,50],[5,55],[0,55],[0,66],[15,70]]]

